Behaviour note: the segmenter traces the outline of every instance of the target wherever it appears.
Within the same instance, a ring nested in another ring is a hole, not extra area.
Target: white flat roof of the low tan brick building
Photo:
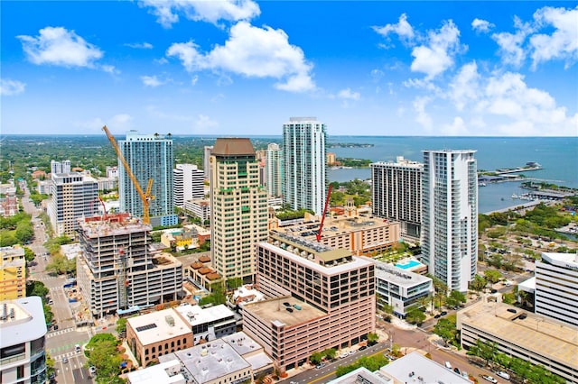
[[[191,334],[191,326],[185,323],[172,308],[130,317],[127,323],[135,330],[143,345]]]

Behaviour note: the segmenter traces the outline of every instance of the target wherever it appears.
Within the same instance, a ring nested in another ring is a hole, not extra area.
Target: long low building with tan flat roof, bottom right
[[[458,312],[457,328],[465,349],[470,349],[478,339],[496,343],[499,352],[542,365],[567,382],[578,383],[576,326],[481,300]]]

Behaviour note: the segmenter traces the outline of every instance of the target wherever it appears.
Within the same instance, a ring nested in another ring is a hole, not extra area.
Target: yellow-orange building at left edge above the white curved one
[[[0,300],[26,297],[26,260],[19,245],[0,247]]]

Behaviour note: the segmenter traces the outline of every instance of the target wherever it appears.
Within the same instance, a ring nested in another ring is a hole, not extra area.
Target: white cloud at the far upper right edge
[[[566,66],[578,59],[578,6],[570,10],[546,6],[536,11],[534,19],[539,26],[555,31],[530,37],[533,68],[550,59],[565,59]]]

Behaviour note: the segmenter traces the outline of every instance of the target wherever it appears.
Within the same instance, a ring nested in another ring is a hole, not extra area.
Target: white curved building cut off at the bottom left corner
[[[46,332],[40,297],[0,302],[0,381],[46,382]]]

